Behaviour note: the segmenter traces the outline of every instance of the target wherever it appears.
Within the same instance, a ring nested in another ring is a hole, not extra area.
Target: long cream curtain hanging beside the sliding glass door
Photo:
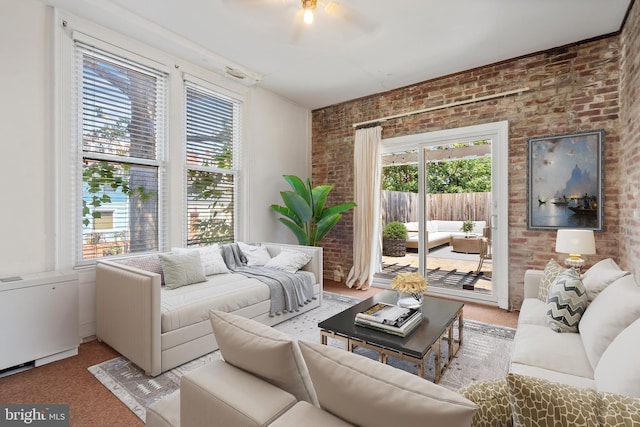
[[[382,128],[358,129],[354,148],[353,267],[347,286],[368,289],[380,242],[380,141]]]

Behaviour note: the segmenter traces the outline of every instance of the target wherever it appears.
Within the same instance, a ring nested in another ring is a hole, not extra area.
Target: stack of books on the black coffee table
[[[358,326],[403,337],[413,331],[421,321],[422,313],[419,310],[383,302],[357,313],[355,317],[355,323]]]

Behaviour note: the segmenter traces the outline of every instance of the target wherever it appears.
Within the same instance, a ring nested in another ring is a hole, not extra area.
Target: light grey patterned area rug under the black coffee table
[[[318,322],[359,302],[359,299],[324,292],[322,305],[274,326],[296,339],[319,342]],[[457,330],[457,328],[456,328]],[[515,329],[503,328],[471,320],[464,321],[463,345],[451,365],[440,380],[440,385],[451,390],[476,380],[497,378],[506,375],[509,355]],[[330,340],[330,345],[343,347],[338,340]],[[377,353],[357,349],[357,353],[377,359]],[[446,356],[443,346],[443,356]],[[146,419],[146,408],[179,388],[180,377],[185,373],[219,359],[219,352],[207,354],[157,377],[148,377],[136,365],[124,357],[116,357],[89,367],[95,378],[107,387],[142,421]],[[396,358],[389,358],[389,364],[408,372],[417,372],[415,364]],[[427,362],[425,379],[433,380],[433,360]]]

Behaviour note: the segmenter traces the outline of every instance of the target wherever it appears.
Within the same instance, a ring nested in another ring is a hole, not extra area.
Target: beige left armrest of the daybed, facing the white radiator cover
[[[96,336],[144,369],[161,373],[160,275],[109,261],[96,265]]]

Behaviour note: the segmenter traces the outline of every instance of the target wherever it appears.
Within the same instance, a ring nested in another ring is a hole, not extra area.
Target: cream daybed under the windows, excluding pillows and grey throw
[[[270,288],[255,278],[225,272],[206,276],[205,282],[166,289],[157,254],[119,262],[103,260],[96,266],[97,338],[147,375],[156,376],[218,348],[209,322],[211,309],[274,325],[318,307],[322,300],[322,248],[274,243],[260,246],[274,259],[284,250],[308,254],[311,260],[297,274],[312,276],[314,299],[297,311],[273,315]]]

